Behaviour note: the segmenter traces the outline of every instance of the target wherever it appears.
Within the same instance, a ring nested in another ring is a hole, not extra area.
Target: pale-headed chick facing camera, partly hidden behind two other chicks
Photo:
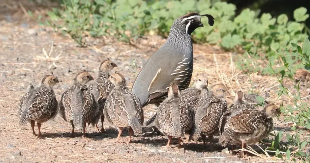
[[[186,102],[191,109],[197,104],[199,98],[201,97],[201,92],[208,87],[208,77],[205,74],[198,75],[194,81],[194,87],[186,88],[180,91],[181,99]],[[193,111],[193,110],[192,110]],[[145,126],[151,125],[155,120],[156,114],[153,115],[147,122]]]

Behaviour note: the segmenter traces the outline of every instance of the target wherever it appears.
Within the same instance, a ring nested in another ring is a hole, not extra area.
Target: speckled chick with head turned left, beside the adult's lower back
[[[108,123],[118,129],[116,142],[119,142],[123,129],[129,127],[129,140],[127,143],[131,143],[133,132],[135,134],[142,133],[144,116],[141,102],[126,87],[126,80],[121,73],[115,72],[108,79],[115,87],[105,102],[104,115]]]

